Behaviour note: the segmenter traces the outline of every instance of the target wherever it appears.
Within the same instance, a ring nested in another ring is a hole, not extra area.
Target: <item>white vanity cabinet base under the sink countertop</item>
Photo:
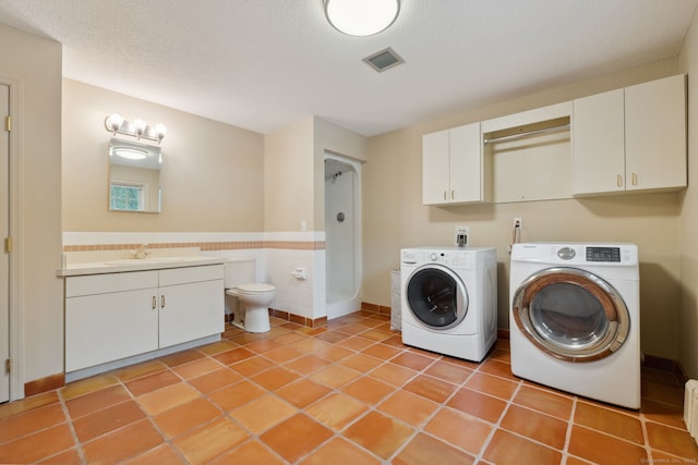
[[[65,371],[224,331],[222,265],[65,278]]]

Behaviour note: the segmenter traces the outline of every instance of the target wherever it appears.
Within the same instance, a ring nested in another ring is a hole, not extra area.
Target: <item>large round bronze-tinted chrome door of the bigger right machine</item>
[[[545,353],[592,362],[621,348],[630,315],[619,293],[577,268],[549,268],[521,283],[512,311],[521,332]]]

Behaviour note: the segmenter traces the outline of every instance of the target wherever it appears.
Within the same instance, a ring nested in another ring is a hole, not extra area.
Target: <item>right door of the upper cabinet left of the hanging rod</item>
[[[482,201],[480,123],[450,130],[450,200]]]

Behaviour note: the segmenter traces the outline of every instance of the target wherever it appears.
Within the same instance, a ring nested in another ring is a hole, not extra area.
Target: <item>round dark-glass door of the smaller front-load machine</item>
[[[449,268],[425,265],[416,269],[405,286],[407,304],[417,319],[429,328],[445,330],[457,326],[468,314],[468,292]]]

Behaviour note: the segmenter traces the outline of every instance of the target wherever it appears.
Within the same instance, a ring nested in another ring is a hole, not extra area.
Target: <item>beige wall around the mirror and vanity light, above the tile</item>
[[[167,127],[159,215],[108,211],[111,113]],[[63,79],[63,231],[258,232],[263,172],[258,133]]]

